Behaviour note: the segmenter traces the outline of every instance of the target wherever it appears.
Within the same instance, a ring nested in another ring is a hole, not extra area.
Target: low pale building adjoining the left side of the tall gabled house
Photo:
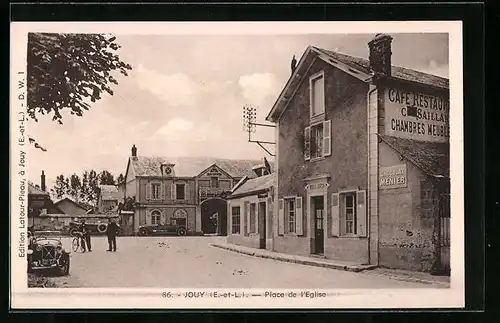
[[[276,174],[255,171],[258,177],[244,178],[227,198],[227,242],[272,250]]]

